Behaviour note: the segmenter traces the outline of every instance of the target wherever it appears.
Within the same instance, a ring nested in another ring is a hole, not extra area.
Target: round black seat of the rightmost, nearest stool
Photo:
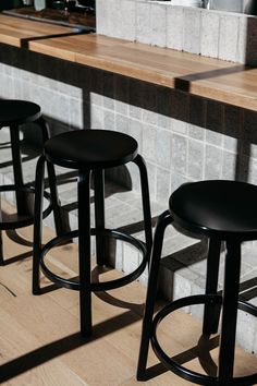
[[[222,238],[257,236],[257,186],[236,181],[185,183],[170,197],[175,224],[196,233]]]

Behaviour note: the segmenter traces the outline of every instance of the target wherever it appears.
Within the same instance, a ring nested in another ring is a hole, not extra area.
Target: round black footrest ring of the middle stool
[[[113,230],[113,229],[103,229],[100,231],[96,231],[95,228],[91,228],[91,236],[95,234],[102,234],[106,236],[108,238],[112,238],[112,239],[117,239],[117,240],[121,240],[121,241],[125,241],[132,245],[134,245],[143,255],[143,260],[142,263],[138,265],[138,267],[133,270],[131,274],[125,275],[122,278],[119,279],[114,279],[114,280],[109,280],[109,281],[103,281],[103,282],[91,282],[90,284],[90,290],[94,291],[108,291],[114,288],[119,288],[122,286],[125,286],[132,281],[134,281],[135,279],[137,279],[142,273],[145,270],[145,267],[147,265],[148,262],[148,255],[147,255],[147,250],[146,250],[146,245],[143,241],[135,239],[134,237]],[[64,279],[56,274],[53,274],[45,264],[45,256],[47,255],[47,253],[54,246],[58,246],[61,243],[68,242],[71,239],[75,239],[78,237],[78,230],[73,230],[71,232],[68,232],[65,234],[56,237],[54,239],[50,240],[47,244],[45,244],[45,246],[41,250],[41,254],[40,254],[40,266],[41,269],[44,272],[44,274],[47,276],[47,278],[53,282],[56,282],[57,285],[68,288],[68,289],[72,289],[72,290],[79,290],[79,281],[74,281],[74,280],[69,280],[69,279]]]

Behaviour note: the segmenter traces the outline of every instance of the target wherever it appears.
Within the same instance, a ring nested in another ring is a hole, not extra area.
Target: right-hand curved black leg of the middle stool
[[[143,202],[143,213],[144,213],[146,248],[147,248],[148,255],[150,256],[151,246],[152,246],[152,231],[151,231],[151,212],[150,212],[150,196],[149,196],[147,169],[146,169],[145,160],[140,155],[137,155],[137,157],[134,159],[134,162],[138,166],[140,172],[142,202]]]

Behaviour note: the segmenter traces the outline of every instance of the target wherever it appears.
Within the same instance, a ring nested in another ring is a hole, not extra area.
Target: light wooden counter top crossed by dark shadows
[[[257,69],[0,15],[0,43],[257,111]]]

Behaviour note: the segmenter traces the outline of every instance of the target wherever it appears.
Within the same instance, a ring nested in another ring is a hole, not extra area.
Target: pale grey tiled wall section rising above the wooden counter
[[[256,65],[257,17],[151,0],[96,0],[97,33]]]

